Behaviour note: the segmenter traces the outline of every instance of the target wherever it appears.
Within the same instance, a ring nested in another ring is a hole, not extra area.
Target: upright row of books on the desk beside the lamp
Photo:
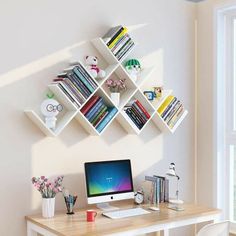
[[[151,181],[152,188],[149,196],[151,204],[169,202],[169,180],[163,176],[145,176],[146,181]]]

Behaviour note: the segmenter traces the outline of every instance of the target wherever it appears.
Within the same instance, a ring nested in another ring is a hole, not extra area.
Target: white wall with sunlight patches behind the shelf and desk
[[[145,174],[164,174],[173,161],[181,198],[193,201],[194,18],[195,4],[182,0],[121,0],[115,6],[105,0],[0,2],[0,235],[25,235],[24,216],[40,212],[32,176],[64,174],[66,187],[84,206],[85,161],[130,158],[136,184]],[[73,50],[82,56],[91,50],[88,43],[70,47],[103,35],[111,25],[141,23],[148,25],[135,33],[137,55],[153,58],[158,65],[153,79],[183,100],[189,116],[181,128],[163,135],[149,125],[137,137],[115,123],[102,137],[92,137],[73,121],[58,138],[45,137],[23,110],[39,106]],[[64,209],[61,195],[56,207]]]

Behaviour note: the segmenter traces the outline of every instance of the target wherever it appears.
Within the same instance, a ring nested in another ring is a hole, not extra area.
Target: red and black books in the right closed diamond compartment
[[[150,118],[150,114],[144,108],[139,100],[134,100],[124,107],[125,113],[133,121],[138,129],[142,129]]]

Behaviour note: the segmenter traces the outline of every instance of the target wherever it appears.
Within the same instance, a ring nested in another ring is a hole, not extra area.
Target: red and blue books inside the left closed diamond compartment
[[[117,111],[115,107],[107,107],[103,98],[96,95],[91,97],[81,109],[83,115],[99,133],[106,127]]]

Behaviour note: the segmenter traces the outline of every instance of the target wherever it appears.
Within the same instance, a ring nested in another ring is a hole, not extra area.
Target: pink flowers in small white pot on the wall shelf
[[[106,85],[111,92],[111,100],[113,101],[115,106],[119,106],[120,103],[120,93],[127,89],[125,84],[125,79],[108,79],[106,81]]]

